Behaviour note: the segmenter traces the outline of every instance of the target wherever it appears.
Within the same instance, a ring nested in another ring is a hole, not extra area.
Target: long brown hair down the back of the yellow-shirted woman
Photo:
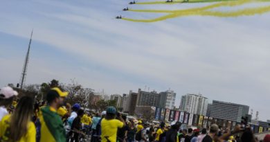
[[[26,134],[33,114],[33,102],[30,96],[22,97],[15,112],[10,116],[10,139],[13,141],[19,141]]]

